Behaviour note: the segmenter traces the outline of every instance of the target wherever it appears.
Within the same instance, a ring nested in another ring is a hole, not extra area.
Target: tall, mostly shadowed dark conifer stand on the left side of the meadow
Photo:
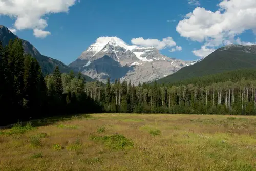
[[[66,113],[101,112],[88,97],[81,73],[43,76],[37,60],[25,54],[22,40],[0,42],[0,124]]]

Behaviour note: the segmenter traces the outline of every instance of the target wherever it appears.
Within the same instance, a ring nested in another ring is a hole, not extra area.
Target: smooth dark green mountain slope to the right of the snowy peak
[[[256,45],[227,45],[219,48],[195,65],[182,68],[158,82],[173,83],[238,69],[256,69]]]

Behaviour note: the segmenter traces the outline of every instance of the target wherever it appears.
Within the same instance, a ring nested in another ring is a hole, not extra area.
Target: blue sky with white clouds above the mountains
[[[255,42],[256,15],[250,12],[256,8],[254,0],[246,0],[248,6],[245,7],[238,4],[242,2],[239,0],[61,1],[62,4],[54,4],[52,0],[46,0],[45,8],[40,9],[41,6],[27,5],[29,1],[25,0],[24,13],[13,11],[18,7],[15,4],[7,4],[0,7],[0,24],[15,29],[17,36],[31,42],[41,54],[66,64],[74,61],[101,36],[116,36],[130,45],[133,38],[162,41],[172,37],[182,51],[169,52],[175,47],[168,46],[160,51],[183,60],[199,59],[227,44],[252,45]],[[67,2],[70,5],[65,6]],[[59,5],[59,8],[53,8],[53,5]],[[31,8],[37,10],[31,11]],[[244,12],[247,19],[249,17],[249,24],[241,23],[245,18],[237,16],[237,11]],[[29,16],[30,13],[35,13],[36,17]],[[232,23],[234,17],[239,23]]]

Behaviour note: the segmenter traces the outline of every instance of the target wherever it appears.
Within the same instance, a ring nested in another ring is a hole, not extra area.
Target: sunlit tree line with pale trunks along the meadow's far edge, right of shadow
[[[106,85],[87,82],[86,94],[105,112],[256,115],[256,80],[196,84]]]

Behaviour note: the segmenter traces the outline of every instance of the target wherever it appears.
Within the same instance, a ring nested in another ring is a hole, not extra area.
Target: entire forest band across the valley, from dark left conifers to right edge
[[[172,84],[86,82],[81,73],[44,77],[20,39],[0,45],[0,124],[75,113],[256,114],[256,71],[237,70]]]

